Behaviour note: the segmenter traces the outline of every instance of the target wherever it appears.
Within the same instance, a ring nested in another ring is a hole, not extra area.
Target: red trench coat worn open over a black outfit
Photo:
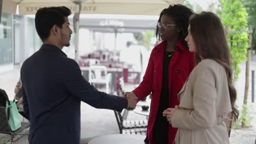
[[[137,95],[138,101],[152,93],[146,137],[146,140],[150,143],[153,143],[153,126],[156,113],[158,112],[162,89],[162,69],[164,64],[165,46],[166,41],[163,41],[152,50],[143,81],[132,91]],[[179,41],[176,47],[179,47],[179,50],[176,50],[173,54],[168,69],[169,107],[179,105],[177,94],[194,68],[195,53],[189,52],[189,50],[182,45],[182,41]],[[172,126],[169,125],[169,144],[173,143],[176,131],[177,128],[172,128]]]

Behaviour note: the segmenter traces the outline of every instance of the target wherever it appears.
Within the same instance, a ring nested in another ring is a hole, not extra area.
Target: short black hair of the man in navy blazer
[[[57,25],[62,28],[65,17],[71,15],[71,10],[67,7],[45,7],[37,10],[34,19],[37,33],[42,41],[50,35],[50,29]]]

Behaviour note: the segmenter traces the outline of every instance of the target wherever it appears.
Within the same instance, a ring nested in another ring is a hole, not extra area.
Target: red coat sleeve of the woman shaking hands
[[[154,72],[153,53],[154,53],[154,50],[150,54],[148,67],[147,67],[146,73],[143,76],[142,82],[139,84],[139,86],[136,89],[132,91],[138,97],[138,101],[147,97],[152,92],[153,72]]]

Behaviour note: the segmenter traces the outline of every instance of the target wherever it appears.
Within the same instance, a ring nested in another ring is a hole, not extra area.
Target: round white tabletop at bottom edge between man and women
[[[143,144],[146,135],[113,134],[96,137],[88,144]]]

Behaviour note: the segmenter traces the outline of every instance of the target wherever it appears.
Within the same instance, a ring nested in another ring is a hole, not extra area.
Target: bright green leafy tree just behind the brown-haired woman
[[[242,2],[239,0],[220,0],[219,10],[217,11],[224,26],[229,27],[229,31],[248,30],[247,13]],[[228,34],[228,44],[232,56],[232,67],[235,71],[234,81],[237,80],[241,69],[238,64],[246,61],[248,48],[247,33]]]

